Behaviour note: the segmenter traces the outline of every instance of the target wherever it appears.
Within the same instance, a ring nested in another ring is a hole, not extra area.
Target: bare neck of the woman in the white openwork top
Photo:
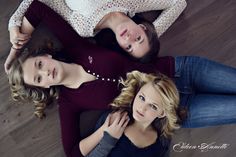
[[[116,31],[116,28],[119,24],[131,20],[127,15],[121,12],[112,12],[105,15],[102,20],[98,23],[97,29],[109,28],[113,32]]]

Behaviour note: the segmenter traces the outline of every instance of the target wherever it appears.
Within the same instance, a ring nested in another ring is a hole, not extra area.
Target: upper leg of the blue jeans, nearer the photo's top
[[[191,89],[199,93],[236,94],[236,68],[206,58],[176,57],[181,62],[182,73]]]

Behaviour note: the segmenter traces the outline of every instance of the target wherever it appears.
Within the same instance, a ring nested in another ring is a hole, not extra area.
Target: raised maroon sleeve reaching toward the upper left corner
[[[30,5],[25,17],[34,28],[40,23],[46,25],[60,40],[64,48],[78,45],[78,43],[84,46],[88,45],[59,14],[37,0],[34,0]]]

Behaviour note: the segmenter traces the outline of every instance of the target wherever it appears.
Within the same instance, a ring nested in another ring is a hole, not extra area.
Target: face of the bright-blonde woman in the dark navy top
[[[165,117],[160,95],[152,83],[145,84],[135,96],[133,117],[136,121],[147,124],[151,124],[157,117]]]

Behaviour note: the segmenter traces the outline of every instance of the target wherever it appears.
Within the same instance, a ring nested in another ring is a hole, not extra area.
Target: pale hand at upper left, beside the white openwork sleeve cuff
[[[30,34],[23,34],[20,32],[18,26],[9,29],[10,42],[15,49],[21,49],[30,39]]]

